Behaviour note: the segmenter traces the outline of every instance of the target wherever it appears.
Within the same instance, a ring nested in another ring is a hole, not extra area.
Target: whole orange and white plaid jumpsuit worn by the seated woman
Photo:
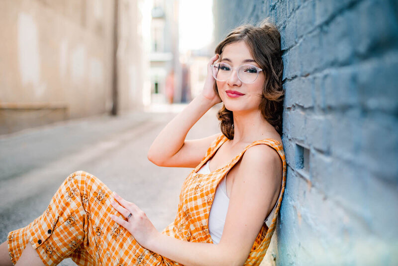
[[[163,234],[191,242],[212,243],[208,232],[208,215],[218,182],[251,146],[266,144],[273,147],[283,161],[282,192],[286,182],[286,160],[282,143],[266,138],[248,145],[232,161],[208,174],[198,174],[227,140],[220,133],[207,149],[199,165],[186,178],[178,206],[177,217],[163,230]],[[29,243],[36,249],[45,265],[59,264],[71,258],[77,265],[179,265],[141,247],[109,214],[124,218],[115,210],[109,198],[112,192],[95,176],[77,171],[69,175],[59,187],[44,213],[24,228],[8,233],[8,251],[16,263]],[[271,226],[264,223],[245,265],[259,265],[275,231],[282,196],[279,198]],[[124,218],[125,219],[125,218]]]

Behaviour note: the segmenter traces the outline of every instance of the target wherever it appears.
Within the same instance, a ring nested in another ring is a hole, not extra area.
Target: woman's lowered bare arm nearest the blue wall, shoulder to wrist
[[[257,145],[248,149],[232,185],[218,244],[186,242],[157,234],[147,248],[184,265],[243,265],[273,206],[272,199],[279,194],[282,171],[282,161],[273,148]]]

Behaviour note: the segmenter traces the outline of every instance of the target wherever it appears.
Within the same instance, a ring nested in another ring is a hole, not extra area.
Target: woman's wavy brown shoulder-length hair
[[[281,52],[281,34],[277,26],[267,17],[258,26],[244,24],[233,29],[215,48],[215,53],[221,57],[224,47],[230,43],[245,41],[250,54],[256,63],[264,70],[265,82],[263,98],[259,109],[263,118],[270,123],[282,136],[282,113],[285,92],[282,87],[283,61]],[[214,84],[218,95],[217,84]],[[223,105],[218,111],[221,132],[233,139],[234,126],[232,111]]]

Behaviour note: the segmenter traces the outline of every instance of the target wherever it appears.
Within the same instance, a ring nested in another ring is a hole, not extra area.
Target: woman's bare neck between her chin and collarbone
[[[242,142],[253,142],[266,138],[274,127],[261,115],[260,110],[251,112],[233,112],[234,137],[232,145]]]

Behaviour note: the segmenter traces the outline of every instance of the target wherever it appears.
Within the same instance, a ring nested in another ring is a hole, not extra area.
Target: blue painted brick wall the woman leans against
[[[397,1],[214,0],[213,11],[216,43],[267,16],[282,35],[288,177],[262,265],[398,265]]]

